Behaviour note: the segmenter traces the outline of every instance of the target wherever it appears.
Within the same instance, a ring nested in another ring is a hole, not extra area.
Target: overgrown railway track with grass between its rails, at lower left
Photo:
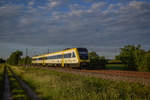
[[[10,67],[4,67],[2,100],[42,100]]]

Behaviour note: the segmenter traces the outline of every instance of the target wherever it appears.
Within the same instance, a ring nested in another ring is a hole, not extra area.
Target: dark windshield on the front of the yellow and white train
[[[86,48],[77,48],[80,59],[88,60],[88,50]]]

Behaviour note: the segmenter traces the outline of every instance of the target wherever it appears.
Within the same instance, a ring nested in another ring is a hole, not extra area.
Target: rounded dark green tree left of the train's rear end
[[[13,52],[10,57],[7,60],[8,64],[11,65],[18,65],[19,60],[21,59],[21,56],[23,55],[23,53],[21,51],[15,51]]]

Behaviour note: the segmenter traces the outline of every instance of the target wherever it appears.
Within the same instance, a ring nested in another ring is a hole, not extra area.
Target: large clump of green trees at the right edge
[[[140,45],[127,45],[121,48],[116,59],[121,60],[129,70],[150,71],[150,52],[141,49]]]

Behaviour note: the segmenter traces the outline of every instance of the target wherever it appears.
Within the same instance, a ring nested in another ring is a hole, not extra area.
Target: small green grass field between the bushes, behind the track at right
[[[106,64],[108,70],[127,70],[124,64]]]

